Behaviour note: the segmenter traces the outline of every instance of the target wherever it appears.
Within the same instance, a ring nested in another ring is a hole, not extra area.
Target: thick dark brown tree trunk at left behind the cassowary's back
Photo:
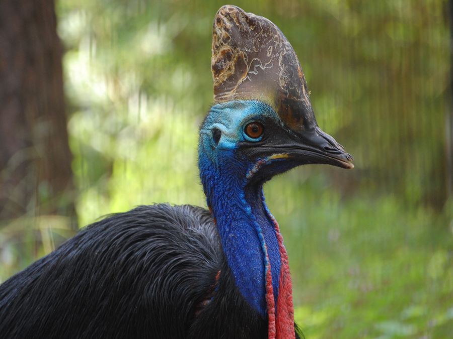
[[[53,0],[2,1],[0,225],[60,215],[77,229],[61,57]]]

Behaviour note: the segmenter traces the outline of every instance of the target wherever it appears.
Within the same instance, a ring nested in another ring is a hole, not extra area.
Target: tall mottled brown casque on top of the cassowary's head
[[[214,103],[258,99],[292,129],[317,126],[307,82],[283,33],[268,19],[223,6],[212,32]]]

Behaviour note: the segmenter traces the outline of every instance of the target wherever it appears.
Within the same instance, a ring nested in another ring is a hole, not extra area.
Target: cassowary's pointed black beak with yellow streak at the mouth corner
[[[304,164],[354,168],[353,157],[317,125],[310,130],[296,131],[275,125],[264,128],[262,140],[241,145],[244,154],[252,161],[259,161],[262,165],[284,162],[287,169]]]

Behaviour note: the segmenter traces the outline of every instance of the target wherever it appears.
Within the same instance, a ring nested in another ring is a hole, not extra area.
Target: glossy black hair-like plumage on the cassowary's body
[[[209,211],[156,204],[89,225],[0,285],[0,338],[264,339],[267,319],[235,286]]]

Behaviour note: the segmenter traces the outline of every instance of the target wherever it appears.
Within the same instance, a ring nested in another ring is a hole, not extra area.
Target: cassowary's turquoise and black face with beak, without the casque
[[[270,105],[261,101],[215,104],[200,129],[198,151],[203,185],[206,162],[222,172],[222,168],[230,172],[233,165],[247,183],[255,184],[305,164],[354,167],[350,163],[352,156],[316,121],[306,125],[291,129]]]

